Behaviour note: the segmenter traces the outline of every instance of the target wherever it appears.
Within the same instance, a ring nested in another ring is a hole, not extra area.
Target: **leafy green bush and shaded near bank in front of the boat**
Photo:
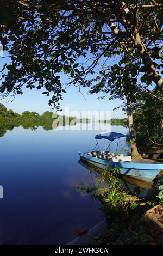
[[[109,174],[97,168],[95,171],[101,175],[96,176],[92,186],[77,187],[90,194],[92,200],[99,199],[99,209],[107,220],[105,234],[92,238],[102,245],[163,245],[163,200],[158,197],[163,178],[153,182],[155,193],[140,198],[136,193],[123,190],[117,167]],[[78,242],[80,244],[80,240]]]

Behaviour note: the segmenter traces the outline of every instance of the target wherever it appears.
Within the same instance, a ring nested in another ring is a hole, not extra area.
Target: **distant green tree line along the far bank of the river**
[[[11,109],[8,110],[3,104],[0,104],[0,137],[3,137],[7,130],[22,126],[24,129],[36,130],[42,126],[44,130],[53,130],[58,126],[76,125],[77,123],[90,123],[90,119],[79,119],[76,117],[67,117],[51,111],[46,111],[42,115],[37,112],[24,111],[18,114]],[[111,125],[125,125],[124,119],[99,120],[102,123]]]

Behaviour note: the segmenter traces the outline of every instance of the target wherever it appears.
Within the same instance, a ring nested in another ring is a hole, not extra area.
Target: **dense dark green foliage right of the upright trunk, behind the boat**
[[[148,97],[147,94],[142,94],[141,101],[134,104],[134,128],[137,143],[141,147],[155,146],[163,148],[163,95],[159,90],[154,90],[153,94],[156,97]]]

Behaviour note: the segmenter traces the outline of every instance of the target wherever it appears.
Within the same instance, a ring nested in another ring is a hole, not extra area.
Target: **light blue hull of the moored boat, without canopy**
[[[79,153],[81,159],[93,164],[96,167],[102,169],[112,169],[114,167],[120,168],[120,173],[131,178],[142,180],[145,182],[152,182],[155,177],[163,170],[163,164],[155,162],[109,162],[107,160],[98,159],[93,156],[89,156],[86,153]]]

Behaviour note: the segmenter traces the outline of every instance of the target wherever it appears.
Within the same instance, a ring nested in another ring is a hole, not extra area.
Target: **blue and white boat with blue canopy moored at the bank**
[[[122,133],[110,132],[105,134],[99,134],[95,136],[95,139],[107,139],[108,141],[113,142],[115,139],[129,137]],[[98,141],[95,148],[98,146],[99,151],[93,150],[90,152],[82,153],[79,152],[81,159],[86,162],[93,164],[93,166],[102,168],[102,169],[113,169],[114,167],[120,168],[120,173],[131,178],[142,180],[145,182],[153,181],[156,176],[163,171],[163,163],[158,161],[147,161],[147,160],[133,160],[131,156],[124,156],[123,154],[110,153],[110,143],[105,151],[99,149]],[[118,147],[117,143],[117,147]]]

